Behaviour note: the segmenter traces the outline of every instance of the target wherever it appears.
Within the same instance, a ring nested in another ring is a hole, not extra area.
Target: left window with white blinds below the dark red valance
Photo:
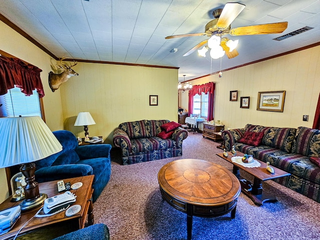
[[[8,92],[0,99],[1,115],[42,117],[39,95],[36,90],[33,90],[32,93],[30,96],[25,96],[18,87],[8,89]]]

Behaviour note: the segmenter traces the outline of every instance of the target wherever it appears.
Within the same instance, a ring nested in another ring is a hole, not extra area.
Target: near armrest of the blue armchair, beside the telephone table
[[[42,167],[37,169],[34,175],[37,182],[44,182],[92,175],[92,171],[92,167],[87,164],[64,164]]]

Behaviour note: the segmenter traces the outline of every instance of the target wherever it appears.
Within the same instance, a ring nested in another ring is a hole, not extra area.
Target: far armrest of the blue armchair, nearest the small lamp
[[[75,152],[78,154],[80,160],[97,157],[110,158],[110,149],[110,144],[92,144],[78,146],[75,148]]]

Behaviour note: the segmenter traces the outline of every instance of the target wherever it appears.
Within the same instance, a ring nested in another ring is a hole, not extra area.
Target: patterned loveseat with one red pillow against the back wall
[[[172,130],[166,139],[158,137],[161,125],[169,120],[139,120],[120,123],[113,131],[113,143],[121,148],[123,165],[182,155],[182,141],[187,131]]]

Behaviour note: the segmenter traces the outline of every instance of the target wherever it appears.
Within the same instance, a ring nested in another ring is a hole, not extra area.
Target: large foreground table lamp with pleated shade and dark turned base
[[[39,116],[0,117],[0,136],[0,167],[21,164],[25,177],[21,210],[41,205],[47,196],[39,193],[34,161],[61,151],[62,145]]]

